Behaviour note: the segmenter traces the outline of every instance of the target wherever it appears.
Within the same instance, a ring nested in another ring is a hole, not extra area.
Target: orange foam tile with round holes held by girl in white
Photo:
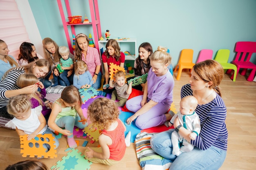
[[[45,135],[36,135],[34,139],[31,139],[30,141],[27,140],[28,135],[21,135],[20,136],[20,153],[22,153],[22,157],[50,157],[50,158],[56,158],[56,149],[54,149],[55,141],[52,134],[45,134]],[[45,146],[43,146],[45,144]]]

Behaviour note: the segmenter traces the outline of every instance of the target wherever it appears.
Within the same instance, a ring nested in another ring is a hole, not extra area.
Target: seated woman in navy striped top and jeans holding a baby
[[[189,79],[181,89],[181,98],[193,95],[198,99],[196,112],[200,117],[202,131],[191,140],[189,130],[174,121],[175,129],[154,135],[150,144],[152,149],[173,163],[169,170],[207,169],[218,170],[227,154],[227,116],[226,106],[219,89],[224,72],[222,66],[214,60],[205,60],[195,64]],[[176,130],[184,139],[195,146],[191,152],[182,153],[179,157],[172,155],[171,133]]]

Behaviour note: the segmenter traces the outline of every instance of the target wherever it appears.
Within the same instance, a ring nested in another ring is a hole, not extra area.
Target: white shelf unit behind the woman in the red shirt
[[[100,56],[104,53],[106,50],[106,44],[108,40],[99,40],[99,54]],[[135,60],[138,56],[137,52],[137,40],[136,38],[129,38],[127,40],[117,40],[121,51],[129,51],[130,55],[125,56],[125,60]]]

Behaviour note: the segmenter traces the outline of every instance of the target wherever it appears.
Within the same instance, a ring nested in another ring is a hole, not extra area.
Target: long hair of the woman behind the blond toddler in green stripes
[[[61,55],[58,52],[58,44],[54,40],[52,40],[51,38],[44,38],[42,43],[43,43],[43,48],[44,48],[44,53],[45,53],[45,59],[49,61],[51,66],[54,63],[60,62]],[[55,46],[55,53],[54,53],[54,59],[53,60],[52,60],[52,57],[51,57],[51,53],[45,47],[47,44],[50,44],[50,43],[53,43],[54,46]]]

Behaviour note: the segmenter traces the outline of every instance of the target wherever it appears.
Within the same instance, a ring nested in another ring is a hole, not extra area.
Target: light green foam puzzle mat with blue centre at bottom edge
[[[89,170],[92,162],[85,159],[85,156],[77,149],[72,149],[66,156],[62,157],[61,161],[56,162],[53,168],[60,168],[60,170]]]

